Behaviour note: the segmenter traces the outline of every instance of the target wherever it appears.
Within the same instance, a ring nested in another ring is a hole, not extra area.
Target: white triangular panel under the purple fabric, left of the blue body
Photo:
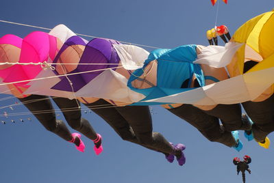
[[[76,96],[105,98],[125,103],[138,102],[145,98],[142,94],[129,89],[125,76],[113,70],[103,71],[82,89],[79,89]]]

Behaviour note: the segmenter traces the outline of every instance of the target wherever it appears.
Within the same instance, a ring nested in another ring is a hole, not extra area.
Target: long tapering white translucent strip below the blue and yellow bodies
[[[235,104],[254,100],[274,83],[274,68],[249,72],[188,92],[147,100],[182,104]]]

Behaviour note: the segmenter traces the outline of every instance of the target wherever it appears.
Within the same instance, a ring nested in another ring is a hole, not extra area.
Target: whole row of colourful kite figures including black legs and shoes
[[[238,130],[245,130],[247,139],[268,148],[267,135],[274,131],[273,14],[252,18],[232,38],[225,25],[212,29],[210,46],[189,44],[151,53],[111,39],[88,41],[64,25],[25,38],[6,35],[0,38],[0,92],[18,98],[16,104],[80,152],[85,148],[81,135],[56,119],[52,101],[69,125],[94,143],[97,155],[103,151],[102,137],[82,110],[102,117],[122,139],[184,165],[185,146],[152,131],[148,106],[153,104],[162,104],[210,141],[240,151]],[[216,36],[227,44],[216,46]],[[3,124],[10,116],[25,114],[8,108],[11,112],[1,115]]]

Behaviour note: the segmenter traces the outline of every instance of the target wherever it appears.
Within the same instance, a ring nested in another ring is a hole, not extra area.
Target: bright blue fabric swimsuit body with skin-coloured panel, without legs
[[[146,96],[143,100],[160,98],[190,90],[192,77],[204,85],[203,72],[198,64],[196,45],[184,45],[174,49],[158,49],[149,55],[142,68],[133,72],[127,85]],[[181,86],[187,79],[189,88]]]

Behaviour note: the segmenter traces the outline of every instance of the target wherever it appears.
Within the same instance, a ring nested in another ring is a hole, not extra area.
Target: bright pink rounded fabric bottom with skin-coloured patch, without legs
[[[21,39],[14,35],[0,38],[0,61],[2,63],[29,63],[51,62],[58,52],[59,41],[48,33],[36,31]],[[0,68],[0,77],[4,83],[34,79],[42,70],[41,66],[34,65],[3,65]],[[8,85],[12,94],[22,96],[29,87],[29,81]]]

